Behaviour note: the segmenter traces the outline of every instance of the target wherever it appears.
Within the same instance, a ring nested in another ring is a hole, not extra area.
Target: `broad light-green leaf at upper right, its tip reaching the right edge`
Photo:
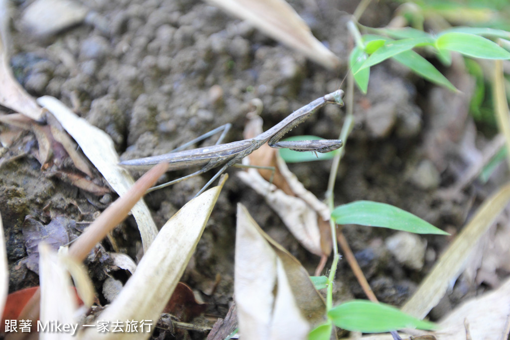
[[[436,47],[456,51],[473,58],[510,59],[510,53],[495,42],[468,33],[441,34],[436,40]]]

